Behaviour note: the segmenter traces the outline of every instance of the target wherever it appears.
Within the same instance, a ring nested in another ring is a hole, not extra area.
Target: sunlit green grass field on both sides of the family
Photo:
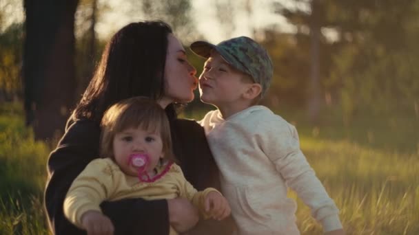
[[[340,208],[347,234],[419,234],[418,117],[365,115],[345,126],[332,113],[311,126],[302,113],[278,113],[298,128],[301,148]],[[3,104],[0,234],[48,234],[42,192],[50,147],[32,137],[20,106]],[[309,209],[297,202],[302,234],[322,234]]]

